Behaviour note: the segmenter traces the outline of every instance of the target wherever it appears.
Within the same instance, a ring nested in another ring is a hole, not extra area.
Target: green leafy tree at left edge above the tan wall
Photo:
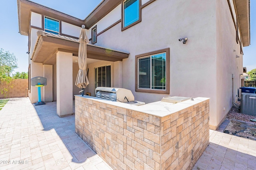
[[[18,68],[15,55],[9,51],[0,49],[0,92],[7,94],[8,89],[12,88],[11,74],[15,68]]]

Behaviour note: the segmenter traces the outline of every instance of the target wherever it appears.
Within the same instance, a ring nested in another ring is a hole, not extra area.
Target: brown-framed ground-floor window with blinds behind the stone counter
[[[169,49],[136,56],[137,92],[169,94]]]

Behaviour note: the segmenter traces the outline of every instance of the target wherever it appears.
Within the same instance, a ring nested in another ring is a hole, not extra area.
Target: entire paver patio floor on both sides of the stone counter
[[[0,111],[0,169],[111,170],[76,135],[74,115],[60,118],[56,102],[34,107],[29,98]],[[256,170],[256,141],[210,130],[193,170]]]

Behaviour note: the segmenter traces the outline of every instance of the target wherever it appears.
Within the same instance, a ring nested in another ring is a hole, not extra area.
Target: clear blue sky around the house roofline
[[[102,0],[32,0],[76,18],[84,19]],[[82,5],[80,5],[82,4]],[[256,0],[250,1],[251,45],[244,47],[244,64],[247,71],[256,68]],[[28,71],[28,37],[18,33],[16,0],[0,0],[0,48],[14,53],[18,59],[15,71]]]

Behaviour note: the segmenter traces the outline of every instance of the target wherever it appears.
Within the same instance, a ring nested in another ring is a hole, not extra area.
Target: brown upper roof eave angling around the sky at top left
[[[52,8],[42,6],[30,0],[17,0],[19,31],[22,35],[28,35],[31,12],[46,15],[78,27],[81,27],[81,25],[84,24],[86,28],[90,28],[114,8],[116,8],[116,6],[118,6],[121,2],[122,0],[103,0],[84,20],[81,20]]]

